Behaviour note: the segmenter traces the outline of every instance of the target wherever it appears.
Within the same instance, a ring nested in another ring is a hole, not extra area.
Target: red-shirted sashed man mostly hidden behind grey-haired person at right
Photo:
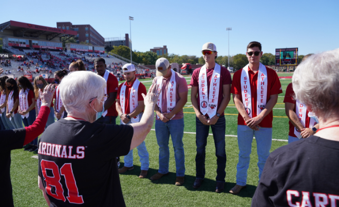
[[[305,61],[311,55],[305,55]],[[285,98],[285,112],[289,120],[290,131],[288,133],[288,143],[298,141],[301,138],[307,138],[319,129],[319,124],[313,113],[307,110],[306,105],[294,99],[292,82],[287,86]],[[298,113],[296,113],[296,111]]]

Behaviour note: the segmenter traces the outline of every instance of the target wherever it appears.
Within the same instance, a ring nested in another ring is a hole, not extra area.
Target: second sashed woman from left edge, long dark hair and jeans
[[[9,118],[15,129],[23,128],[21,115],[17,113],[19,106],[19,88],[13,78],[6,79],[8,89],[8,100],[6,107],[6,117]]]

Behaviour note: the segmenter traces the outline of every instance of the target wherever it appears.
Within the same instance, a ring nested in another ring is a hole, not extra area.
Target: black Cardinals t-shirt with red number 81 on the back
[[[38,143],[50,206],[125,206],[116,157],[128,154],[133,132],[63,118],[50,125]]]

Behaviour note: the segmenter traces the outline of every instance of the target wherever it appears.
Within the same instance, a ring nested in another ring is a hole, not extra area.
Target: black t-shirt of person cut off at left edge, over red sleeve
[[[25,128],[17,130],[0,130],[0,205],[14,206],[12,183],[10,177],[11,150],[23,148],[26,136]]]

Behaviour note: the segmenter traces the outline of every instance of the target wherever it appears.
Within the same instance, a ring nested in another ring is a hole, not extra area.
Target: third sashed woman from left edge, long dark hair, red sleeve
[[[21,76],[18,79],[18,84],[20,86],[20,92],[19,109],[17,113],[21,115],[25,127],[29,127],[36,118],[34,88],[29,79],[25,76]],[[27,150],[29,152],[37,150],[37,137],[30,143],[30,146],[25,149],[25,151]]]

